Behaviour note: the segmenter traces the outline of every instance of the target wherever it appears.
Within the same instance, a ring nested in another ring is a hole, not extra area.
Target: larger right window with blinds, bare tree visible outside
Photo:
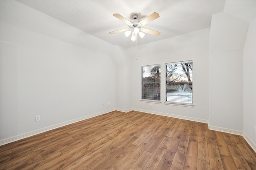
[[[166,103],[193,104],[193,62],[166,64]]]

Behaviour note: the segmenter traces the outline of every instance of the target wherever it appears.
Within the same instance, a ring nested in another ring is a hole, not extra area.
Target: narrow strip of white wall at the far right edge
[[[256,18],[249,25],[244,43],[244,133],[256,145]]]

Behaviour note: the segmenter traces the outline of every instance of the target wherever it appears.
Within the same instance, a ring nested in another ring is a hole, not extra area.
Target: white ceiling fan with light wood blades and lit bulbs
[[[150,16],[148,16],[147,18],[145,18],[142,21],[138,20],[138,15],[134,14],[132,15],[132,21],[128,21],[126,18],[124,18],[123,16],[121,16],[120,14],[113,14],[114,17],[118,18],[119,20],[123,21],[124,23],[128,24],[128,28],[125,29],[120,29],[117,31],[112,31],[110,32],[110,34],[115,34],[115,33],[120,33],[120,32],[124,32],[124,34],[126,35],[126,37],[128,37],[130,34],[132,34],[132,41],[135,41],[137,39],[137,34],[140,35],[141,38],[144,37],[144,33],[148,33],[151,35],[160,35],[160,32],[158,31],[154,31],[152,29],[147,29],[144,28],[143,26],[146,25],[147,23],[156,20],[156,18],[159,18],[159,14],[154,12],[153,14],[151,14]]]

